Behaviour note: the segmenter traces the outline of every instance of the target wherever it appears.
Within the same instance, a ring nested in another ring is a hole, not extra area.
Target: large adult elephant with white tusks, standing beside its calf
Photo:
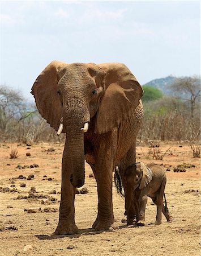
[[[52,61],[37,77],[31,93],[42,117],[58,135],[66,133],[55,234],[78,233],[74,200],[76,187],[84,184],[84,158],[95,175],[99,197],[93,228],[118,228],[113,215],[112,172],[118,165],[123,179],[125,169],[135,163],[136,135],[143,117],[139,82],[121,63]]]

